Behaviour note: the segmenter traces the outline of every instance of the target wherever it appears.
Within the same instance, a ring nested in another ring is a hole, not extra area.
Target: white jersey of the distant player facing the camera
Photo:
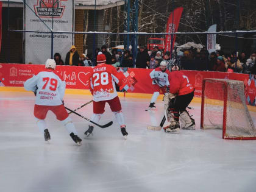
[[[161,87],[163,86],[169,86],[169,80],[168,80],[168,74],[171,73],[168,69],[165,70],[165,72],[163,72],[159,67],[155,68],[153,71],[151,71],[151,73],[149,74],[151,79],[155,79],[157,80],[158,84],[161,85]],[[152,82],[153,85],[155,85],[155,82]]]

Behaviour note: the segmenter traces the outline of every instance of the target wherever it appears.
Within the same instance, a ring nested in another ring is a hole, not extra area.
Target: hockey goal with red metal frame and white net
[[[203,79],[201,129],[222,129],[224,139],[256,140],[242,81]]]

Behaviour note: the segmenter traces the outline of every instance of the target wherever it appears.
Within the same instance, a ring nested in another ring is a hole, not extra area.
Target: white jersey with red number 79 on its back
[[[48,106],[62,104],[66,82],[62,81],[52,69],[45,69],[30,79],[27,79],[24,83],[24,88],[27,91],[35,91],[36,85],[38,90],[35,104]]]

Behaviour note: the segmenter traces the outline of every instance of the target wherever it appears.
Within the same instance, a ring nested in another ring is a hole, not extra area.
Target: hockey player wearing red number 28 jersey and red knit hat
[[[92,69],[91,76],[89,77],[89,88],[91,94],[93,94],[93,115],[90,120],[95,123],[99,122],[99,119],[105,112],[104,108],[107,102],[115,114],[116,121],[121,128],[121,133],[126,139],[128,133],[126,132],[124,115],[115,87],[115,82],[121,86],[123,75],[118,73],[115,67],[107,65],[105,62],[105,55],[99,52],[97,56],[98,65]],[[89,125],[89,129],[85,132],[85,135],[88,137],[92,132],[93,126]]]

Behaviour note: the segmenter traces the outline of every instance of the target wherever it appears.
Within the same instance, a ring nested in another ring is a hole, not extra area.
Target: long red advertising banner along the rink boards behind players
[[[25,80],[44,69],[44,65],[24,64],[0,64],[0,86],[23,87]],[[85,66],[60,66],[55,69],[66,81],[66,88],[88,89],[88,75],[90,67]],[[120,68],[125,79],[120,90],[132,93],[153,93],[152,79],[149,76],[152,69]],[[202,79],[234,79],[244,82],[247,104],[255,106],[256,98],[256,76],[240,73],[224,73],[212,71],[182,71],[193,84],[195,97],[201,97]],[[172,82],[170,82],[172,84]]]

